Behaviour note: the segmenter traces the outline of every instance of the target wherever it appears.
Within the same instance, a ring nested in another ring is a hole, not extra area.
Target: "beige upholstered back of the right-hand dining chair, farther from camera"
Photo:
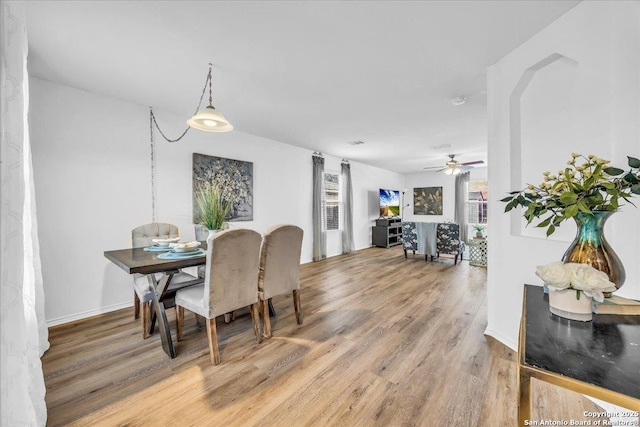
[[[276,225],[265,233],[258,279],[261,299],[300,289],[303,234],[302,228],[295,225]]]

